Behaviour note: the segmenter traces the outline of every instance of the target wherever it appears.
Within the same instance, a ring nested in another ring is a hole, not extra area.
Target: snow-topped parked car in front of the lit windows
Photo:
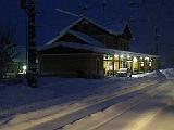
[[[116,73],[119,77],[132,77],[132,72],[128,68],[120,68]]]

